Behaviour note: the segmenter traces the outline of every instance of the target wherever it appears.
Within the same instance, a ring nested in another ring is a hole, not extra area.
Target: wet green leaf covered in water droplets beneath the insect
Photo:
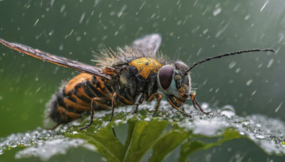
[[[167,155],[180,146],[179,161],[187,161],[195,151],[206,150],[240,138],[253,141],[268,154],[283,156],[285,153],[284,141],[278,136],[260,131],[244,118],[228,119],[216,115],[188,119],[171,113],[160,113],[160,117],[152,117],[147,110],[142,110],[135,115],[120,112],[109,122],[109,114],[101,114],[100,118],[95,119],[93,124],[83,131],[77,131],[79,126],[61,126],[57,131],[39,128],[24,134],[11,134],[0,139],[0,154],[13,148],[26,147],[16,153],[16,157],[36,156],[47,160],[59,152],[45,152],[51,148],[56,147],[64,154],[70,148],[89,146],[88,148],[98,151],[107,161],[140,161],[142,158],[149,158],[144,156],[149,156],[147,152],[151,149],[150,161],[162,161],[167,160]],[[276,129],[272,126],[265,129],[275,134],[283,130],[283,123],[276,119],[257,116],[252,118],[253,123],[254,119],[257,123],[278,123]],[[88,118],[80,125],[83,126],[87,122]],[[120,132],[120,140],[114,136],[112,127]],[[244,135],[240,135],[241,133]],[[61,141],[59,146],[58,141]]]

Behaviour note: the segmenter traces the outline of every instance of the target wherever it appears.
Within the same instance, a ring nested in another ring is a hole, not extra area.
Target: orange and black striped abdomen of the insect
[[[96,104],[95,111],[110,109],[110,87],[100,77],[81,73],[53,95],[49,103],[49,117],[58,124],[68,123],[90,114],[91,99],[103,97],[105,104]]]

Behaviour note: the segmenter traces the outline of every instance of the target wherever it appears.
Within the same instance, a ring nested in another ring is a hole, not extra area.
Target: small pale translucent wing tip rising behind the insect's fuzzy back
[[[157,53],[157,50],[160,48],[161,41],[162,38],[160,34],[153,33],[136,39],[133,41],[133,46],[135,48],[149,50],[155,55],[155,53]]]

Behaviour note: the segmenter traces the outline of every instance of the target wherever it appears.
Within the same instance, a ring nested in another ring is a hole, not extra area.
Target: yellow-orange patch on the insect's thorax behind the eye
[[[161,68],[161,63],[157,62],[154,58],[138,58],[129,63],[138,69],[138,73],[143,78],[147,79],[150,72],[157,73]]]

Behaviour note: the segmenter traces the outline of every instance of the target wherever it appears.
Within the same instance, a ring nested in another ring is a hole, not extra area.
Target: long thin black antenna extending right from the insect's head
[[[192,68],[194,68],[195,66],[201,64],[201,63],[204,63],[204,62],[207,62],[209,60],[213,60],[213,59],[216,59],[216,58],[222,58],[222,57],[225,57],[225,56],[229,56],[229,55],[238,55],[238,54],[242,54],[242,53],[252,53],[252,52],[266,52],[266,51],[270,51],[270,52],[273,52],[275,53],[276,50],[274,49],[271,49],[271,48],[266,48],[266,49],[252,49],[252,50],[240,50],[240,51],[236,51],[236,52],[232,52],[232,53],[225,53],[225,54],[222,54],[222,55],[217,55],[217,56],[214,56],[212,58],[206,58],[204,60],[200,60],[198,61],[197,63],[195,63],[194,65],[192,65],[192,67],[190,67],[186,72],[185,74],[187,74],[190,70],[192,70]]]

